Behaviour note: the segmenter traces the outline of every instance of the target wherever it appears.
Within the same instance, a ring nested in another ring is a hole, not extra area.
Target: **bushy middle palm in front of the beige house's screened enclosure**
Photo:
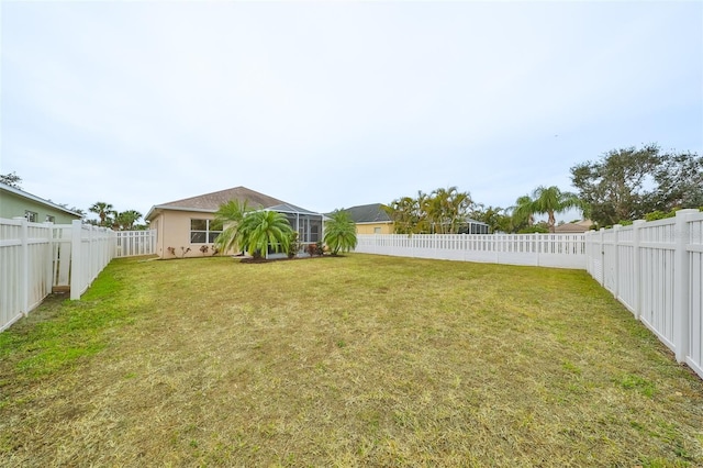
[[[293,229],[288,219],[276,211],[254,211],[236,226],[234,242],[255,258],[260,258],[269,245],[275,252],[288,252]]]

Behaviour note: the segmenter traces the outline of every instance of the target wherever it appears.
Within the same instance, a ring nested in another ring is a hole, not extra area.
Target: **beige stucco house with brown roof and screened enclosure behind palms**
[[[322,241],[322,214],[246,187],[234,187],[152,207],[146,220],[150,229],[157,232],[156,254],[161,258],[212,255],[213,243],[222,232],[213,223],[215,211],[231,200],[246,201],[253,209],[282,213],[293,230],[298,231],[301,243]]]

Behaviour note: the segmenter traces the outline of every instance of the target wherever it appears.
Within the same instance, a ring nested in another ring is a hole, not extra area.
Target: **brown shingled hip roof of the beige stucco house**
[[[185,198],[182,200],[169,201],[167,203],[154,205],[146,214],[146,220],[152,220],[157,213],[164,210],[214,213],[221,204],[226,203],[230,200],[239,200],[242,202],[246,201],[247,205],[254,209],[287,204],[284,201],[247,189],[246,187],[234,187],[232,189],[220,190],[198,197]]]

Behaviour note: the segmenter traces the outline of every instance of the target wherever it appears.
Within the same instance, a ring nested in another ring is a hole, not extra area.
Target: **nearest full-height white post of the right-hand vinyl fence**
[[[687,244],[689,239],[688,215],[698,213],[698,210],[677,211],[674,238],[676,250],[673,253],[673,344],[676,346],[677,360],[685,363],[689,354],[689,253]]]

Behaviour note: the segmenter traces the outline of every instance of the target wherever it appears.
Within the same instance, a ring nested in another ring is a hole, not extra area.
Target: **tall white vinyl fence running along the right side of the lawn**
[[[703,213],[591,232],[587,269],[703,378]]]

